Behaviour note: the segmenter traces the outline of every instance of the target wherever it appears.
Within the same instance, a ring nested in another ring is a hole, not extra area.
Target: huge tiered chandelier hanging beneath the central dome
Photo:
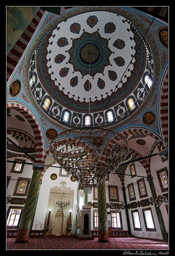
[[[74,128],[50,143],[50,154],[84,187],[92,187],[117,170],[129,154],[129,145],[117,132],[104,128]]]

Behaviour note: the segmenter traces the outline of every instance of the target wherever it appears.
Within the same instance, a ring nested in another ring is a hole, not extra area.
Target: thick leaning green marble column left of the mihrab
[[[27,243],[29,240],[38,199],[38,191],[40,189],[40,179],[43,171],[44,166],[40,165],[37,167],[36,165],[33,165],[33,175],[31,178],[29,191],[27,193],[27,198],[25,201],[25,206],[15,243]]]

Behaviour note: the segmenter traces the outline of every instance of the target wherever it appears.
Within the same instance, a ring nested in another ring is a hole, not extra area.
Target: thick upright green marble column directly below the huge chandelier
[[[98,242],[109,242],[105,182],[98,183]]]

